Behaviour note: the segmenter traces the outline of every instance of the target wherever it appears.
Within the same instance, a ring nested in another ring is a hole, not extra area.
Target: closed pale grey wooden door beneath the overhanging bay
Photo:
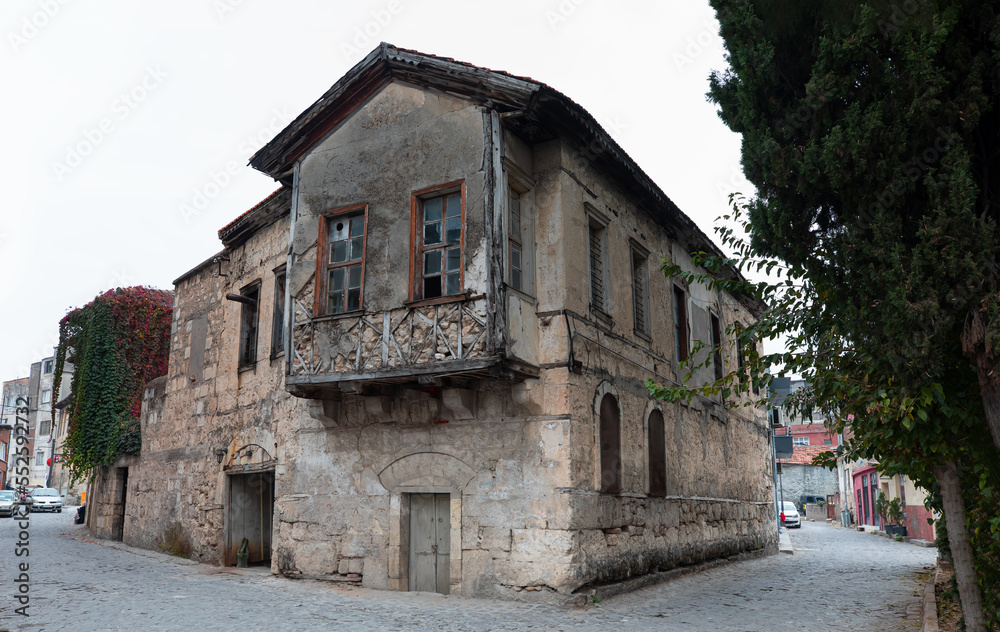
[[[451,495],[410,494],[410,590],[448,594]]]

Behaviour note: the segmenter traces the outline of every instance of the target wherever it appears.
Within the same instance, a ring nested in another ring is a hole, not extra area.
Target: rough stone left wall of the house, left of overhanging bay
[[[129,473],[126,543],[166,544],[189,550],[192,559],[222,563],[227,471],[280,469],[279,425],[305,409],[285,392],[284,357],[271,349],[272,328],[281,326],[272,322],[275,270],[284,263],[287,241],[285,216],[225,253],[228,262],[207,263],[177,284],[165,394],[147,393],[141,466]],[[261,283],[257,361],[240,369],[241,304],[224,297],[255,281]],[[263,448],[253,463],[234,459],[248,445]],[[217,449],[226,452],[221,464]]]

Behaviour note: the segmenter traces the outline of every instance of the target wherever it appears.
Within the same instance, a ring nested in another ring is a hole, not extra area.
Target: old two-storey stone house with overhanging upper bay
[[[716,248],[580,106],[383,44],[251,165],[95,528],[507,598],[774,547],[763,413],[646,391],[760,306],[659,273]]]

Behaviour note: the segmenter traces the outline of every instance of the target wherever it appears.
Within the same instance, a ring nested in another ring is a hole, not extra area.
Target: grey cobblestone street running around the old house
[[[0,628],[12,630],[919,630],[936,549],[805,523],[794,555],[724,565],[584,609],[346,589],[94,541],[74,510],[32,514],[30,557],[0,519]],[[30,616],[14,614],[30,561]]]

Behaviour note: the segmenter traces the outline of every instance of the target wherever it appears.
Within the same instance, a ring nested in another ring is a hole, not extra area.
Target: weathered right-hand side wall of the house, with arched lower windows
[[[686,370],[676,359],[672,292],[675,282],[658,271],[669,259],[690,268],[688,252],[697,245],[680,229],[668,234],[629,195],[596,171],[584,150],[552,141],[535,148],[535,200],[539,224],[539,313],[568,309],[572,315],[540,319],[539,364],[578,364],[567,382],[572,417],[572,484],[569,522],[564,529],[571,575],[578,583],[623,579],[657,569],[775,549],[770,446],[758,407],[741,407],[750,396],[696,398],[691,405],[650,399],[646,380],[679,383]],[[607,313],[590,304],[587,208],[606,226],[611,283]],[[667,212],[667,211],[662,211]],[[683,224],[679,222],[679,224]],[[650,326],[635,331],[632,313],[631,253],[638,243],[649,251]],[[562,270],[551,274],[554,269]],[[547,283],[550,278],[565,281]],[[732,296],[702,286],[680,285],[688,296],[689,344],[710,344],[709,314],[729,325],[753,316]],[[723,334],[723,370],[736,366],[735,343]],[[690,348],[690,346],[689,346]],[[695,363],[706,352],[695,357]],[[570,357],[571,356],[571,357]],[[714,378],[711,365],[695,372],[694,383]],[[611,393],[621,413],[622,491],[600,489],[600,396]],[[649,492],[648,419],[661,410],[665,425],[667,496]],[[550,523],[550,527],[553,525]]]

